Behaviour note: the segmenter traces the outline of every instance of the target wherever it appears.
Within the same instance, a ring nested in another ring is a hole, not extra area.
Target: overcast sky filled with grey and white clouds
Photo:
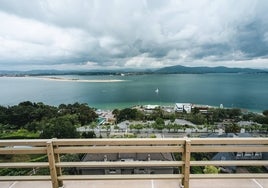
[[[267,0],[0,0],[0,70],[268,68]]]

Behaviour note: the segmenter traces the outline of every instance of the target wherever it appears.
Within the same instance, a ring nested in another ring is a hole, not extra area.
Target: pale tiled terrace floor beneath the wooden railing
[[[0,182],[1,188],[51,188],[49,181]],[[180,188],[179,180],[64,181],[64,188]],[[190,180],[191,188],[268,188],[266,179]]]

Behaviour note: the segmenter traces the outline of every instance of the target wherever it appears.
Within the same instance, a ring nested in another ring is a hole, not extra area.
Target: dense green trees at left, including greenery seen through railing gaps
[[[97,114],[86,104],[61,104],[59,107],[43,103],[22,102],[15,106],[0,106],[0,139],[37,138],[94,138],[94,132],[81,136],[77,127],[94,125]],[[62,160],[80,161],[77,155],[63,155]],[[0,155],[0,162],[47,162],[47,156]],[[0,175],[49,174],[49,169],[0,169]],[[65,168],[65,174],[75,174],[75,168]]]

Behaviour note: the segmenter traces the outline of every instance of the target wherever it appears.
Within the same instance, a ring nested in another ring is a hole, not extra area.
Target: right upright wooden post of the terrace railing
[[[182,155],[182,160],[184,165],[182,166],[182,185],[184,188],[189,188],[189,178],[190,178],[190,161],[191,161],[191,140],[186,138],[184,145],[184,152]]]

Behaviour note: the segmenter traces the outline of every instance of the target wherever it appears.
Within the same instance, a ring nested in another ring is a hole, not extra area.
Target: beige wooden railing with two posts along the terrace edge
[[[193,166],[268,166],[268,160],[191,161],[191,153],[211,152],[268,152],[268,138],[164,138],[164,139],[50,139],[1,140],[0,155],[44,154],[48,162],[0,163],[2,168],[49,168],[50,175],[0,176],[0,181],[52,182],[53,188],[63,186],[65,180],[115,180],[115,179],[178,179],[189,188],[190,179],[265,178],[267,173],[245,174],[191,174]],[[116,162],[62,162],[64,154],[76,153],[179,153],[181,161],[116,161]],[[63,175],[66,167],[122,168],[122,167],[173,167],[179,174],[135,175]]]

